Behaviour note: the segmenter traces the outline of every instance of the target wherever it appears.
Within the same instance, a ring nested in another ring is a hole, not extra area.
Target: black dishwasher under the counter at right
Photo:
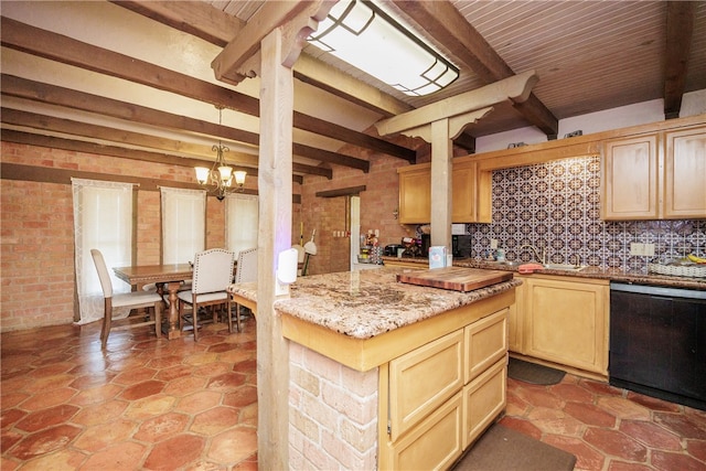
[[[706,410],[706,291],[610,285],[613,386]]]

